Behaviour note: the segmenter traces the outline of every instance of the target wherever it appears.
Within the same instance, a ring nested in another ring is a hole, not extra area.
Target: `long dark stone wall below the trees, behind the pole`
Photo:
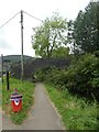
[[[32,75],[43,68],[57,67],[66,68],[69,66],[69,58],[36,58],[29,59],[24,63],[24,78],[31,78]],[[21,78],[21,64],[16,64],[11,67],[11,73],[14,73],[16,78]]]

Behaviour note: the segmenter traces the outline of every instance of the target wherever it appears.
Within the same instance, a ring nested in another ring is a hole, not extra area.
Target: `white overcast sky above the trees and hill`
[[[75,20],[79,10],[84,10],[90,0],[0,0],[0,26],[21,10],[45,20],[52,16],[53,12],[67,20]],[[21,54],[21,24],[20,13],[3,28],[0,28],[0,54]],[[41,24],[29,15],[24,14],[24,55],[34,56],[31,44],[32,28]]]

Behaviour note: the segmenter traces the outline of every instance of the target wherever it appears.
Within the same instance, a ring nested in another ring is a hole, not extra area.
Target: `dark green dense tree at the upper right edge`
[[[79,11],[73,26],[72,43],[75,51],[94,53],[99,50],[99,2],[90,2],[85,11]]]

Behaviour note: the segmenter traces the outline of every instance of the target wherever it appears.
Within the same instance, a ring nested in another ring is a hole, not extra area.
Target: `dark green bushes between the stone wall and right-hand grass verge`
[[[87,99],[99,96],[99,58],[95,55],[82,55],[66,69],[50,68],[41,72],[43,80],[53,82],[58,89],[68,89]]]

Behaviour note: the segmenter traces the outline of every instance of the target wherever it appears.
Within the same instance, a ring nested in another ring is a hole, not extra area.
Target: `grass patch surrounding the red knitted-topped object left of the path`
[[[18,88],[19,94],[23,96],[22,98],[22,110],[19,112],[13,112],[11,109],[10,97],[13,94],[13,89]],[[15,78],[10,78],[10,90],[7,90],[6,79],[2,86],[2,110],[6,114],[10,116],[11,120],[15,124],[20,124],[28,116],[28,111],[34,103],[34,84],[29,81],[21,81]]]

